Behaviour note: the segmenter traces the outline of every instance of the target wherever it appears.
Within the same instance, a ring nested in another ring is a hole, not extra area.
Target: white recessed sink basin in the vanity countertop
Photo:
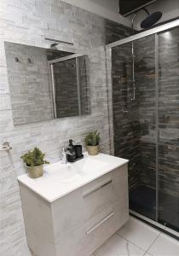
[[[61,183],[72,183],[92,173],[100,172],[108,164],[101,160],[84,157],[75,163],[61,164],[61,161],[44,167],[49,177],[54,177],[55,181]]]

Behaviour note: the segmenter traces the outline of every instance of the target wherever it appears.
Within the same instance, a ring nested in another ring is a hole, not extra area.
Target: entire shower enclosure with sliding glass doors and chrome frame
[[[107,56],[111,137],[114,154],[130,160],[130,213],[178,237],[179,20],[108,44]]]

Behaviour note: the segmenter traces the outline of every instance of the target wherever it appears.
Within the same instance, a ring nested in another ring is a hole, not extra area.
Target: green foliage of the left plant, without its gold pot
[[[34,167],[34,166],[42,166],[43,164],[49,164],[48,161],[44,160],[45,154],[42,151],[35,147],[32,151],[28,151],[28,153],[23,154],[21,158],[23,159],[26,166]]]

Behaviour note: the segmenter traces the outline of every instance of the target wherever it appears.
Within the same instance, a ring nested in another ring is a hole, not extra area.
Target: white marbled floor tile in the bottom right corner
[[[179,241],[160,234],[147,253],[153,256],[179,256]]]

